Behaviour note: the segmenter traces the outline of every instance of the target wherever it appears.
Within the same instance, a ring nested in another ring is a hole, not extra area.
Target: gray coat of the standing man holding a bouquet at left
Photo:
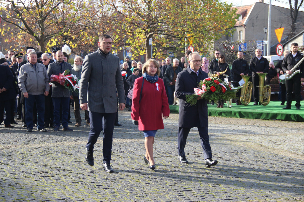
[[[49,79],[52,74],[59,75],[62,74],[64,70],[70,70],[70,74],[72,73],[72,66],[70,63],[63,62],[62,67],[60,63],[56,60],[53,63],[49,64],[49,67],[47,68],[47,74],[49,75]],[[51,79],[50,79],[51,80]],[[64,88],[64,86],[61,86],[59,83],[52,83],[52,97],[70,97],[72,93],[69,91],[69,89]]]

